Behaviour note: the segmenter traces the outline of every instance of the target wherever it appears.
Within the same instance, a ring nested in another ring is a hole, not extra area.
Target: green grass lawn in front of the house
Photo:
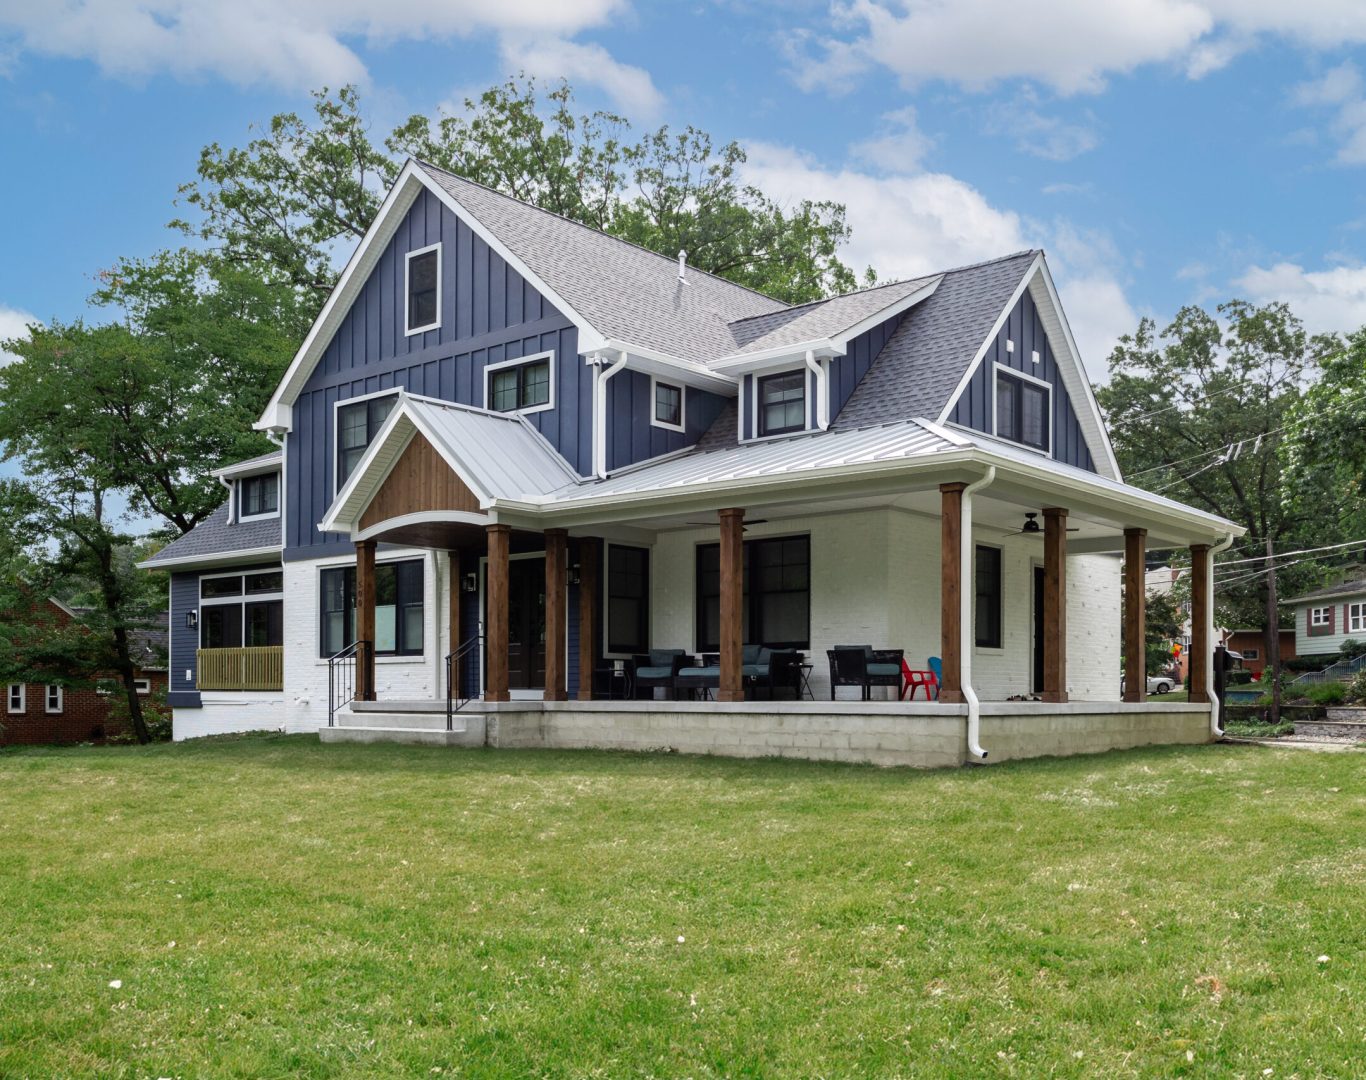
[[[1359,1076],[1362,765],[4,752],[0,1076]]]

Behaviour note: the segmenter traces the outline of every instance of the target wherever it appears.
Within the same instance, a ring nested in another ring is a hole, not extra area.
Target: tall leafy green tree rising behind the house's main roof
[[[410,117],[381,149],[354,87],[321,90],[311,119],[281,113],[245,147],[205,147],[197,179],[180,188],[198,220],[173,224],[317,310],[339,253],[365,235],[413,156],[669,258],[686,250],[693,266],[783,300],[858,284],[837,257],[850,236],[841,205],[783,206],[743,182],[739,143],[716,147],[693,127],[628,135],[616,113],[576,115],[567,83],[542,98],[519,78],[467,98],[460,115]]]

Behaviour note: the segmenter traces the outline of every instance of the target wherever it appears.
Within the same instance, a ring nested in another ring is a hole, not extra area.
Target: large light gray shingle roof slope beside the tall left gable
[[[609,339],[705,363],[735,350],[729,324],[787,304],[426,162],[419,167]]]

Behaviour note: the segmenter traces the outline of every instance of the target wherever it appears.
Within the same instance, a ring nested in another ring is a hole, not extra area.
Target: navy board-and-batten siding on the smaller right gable
[[[1007,347],[1008,341],[1015,343],[1014,350]],[[1034,363],[1034,352],[1038,352],[1038,363]],[[1082,426],[1076,421],[1072,399],[1059,374],[1057,358],[1048,341],[1048,333],[1044,330],[1034,298],[1027,291],[1011,310],[1000,333],[988,347],[982,363],[959,396],[953,414],[949,416],[953,423],[992,434],[997,365],[1011,371],[1033,375],[1053,388],[1053,457],[1094,472],[1096,461],[1086,445]]]

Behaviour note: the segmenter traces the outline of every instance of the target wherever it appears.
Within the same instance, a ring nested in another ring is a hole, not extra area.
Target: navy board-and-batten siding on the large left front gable
[[[441,325],[406,335],[406,255],[441,244]],[[294,406],[284,558],[352,550],[320,532],[332,502],[337,401],[404,389],[484,407],[490,363],[555,352],[555,407],[527,419],[581,475],[591,470],[593,371],[578,329],[430,191],[408,209]]]

